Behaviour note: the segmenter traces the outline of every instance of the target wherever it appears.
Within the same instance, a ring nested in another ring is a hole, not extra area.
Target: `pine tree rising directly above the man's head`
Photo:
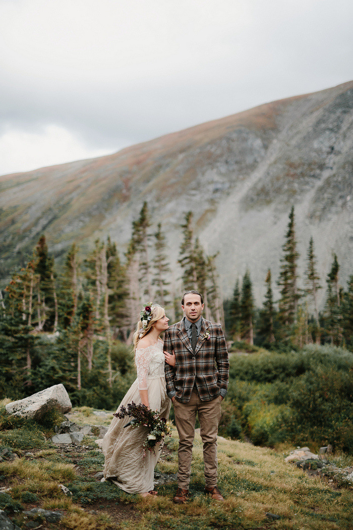
[[[195,267],[195,249],[193,241],[193,229],[192,229],[193,214],[188,211],[185,214],[184,224],[181,225],[183,228],[183,242],[180,245],[180,258],[178,263],[182,268],[182,282],[183,289],[197,289],[197,275]]]

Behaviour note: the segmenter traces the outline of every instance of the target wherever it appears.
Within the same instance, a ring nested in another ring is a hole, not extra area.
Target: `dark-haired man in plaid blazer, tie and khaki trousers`
[[[202,317],[203,298],[198,291],[184,294],[184,318],[167,329],[164,350],[175,352],[176,364],[165,365],[167,394],[174,405],[179,434],[178,489],[174,502],[188,497],[196,412],[200,421],[205,466],[205,493],[224,500],[217,488],[217,433],[221,401],[227,394],[229,361],[220,324]],[[216,367],[216,366],[217,367]]]

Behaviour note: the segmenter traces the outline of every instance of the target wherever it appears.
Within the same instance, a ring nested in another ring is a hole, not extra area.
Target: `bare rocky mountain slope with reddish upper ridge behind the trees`
[[[223,295],[249,268],[257,303],[278,278],[291,206],[303,277],[310,237],[322,285],[336,252],[353,273],[353,82],[203,123],[110,156],[0,177],[0,276],[42,233],[58,258],[110,235],[121,252],[148,202],[176,260],[189,210]],[[178,272],[175,272],[175,277]],[[273,286],[275,288],[275,285]],[[323,291],[324,289],[322,289]]]

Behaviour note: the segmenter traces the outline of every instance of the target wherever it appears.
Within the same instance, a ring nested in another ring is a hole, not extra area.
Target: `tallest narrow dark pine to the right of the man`
[[[299,257],[296,251],[294,207],[289,214],[286,240],[282,246],[283,257],[281,258],[278,286],[280,287],[279,320],[283,326],[287,327],[295,322],[298,300],[300,293],[297,286],[297,260]],[[288,337],[288,333],[287,333]]]

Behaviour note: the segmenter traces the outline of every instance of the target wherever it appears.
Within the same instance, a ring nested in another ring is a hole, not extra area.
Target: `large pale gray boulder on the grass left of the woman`
[[[15,416],[40,419],[53,408],[62,413],[69,412],[72,408],[69,395],[62,384],[50,386],[28,398],[8,403],[6,412]]]

